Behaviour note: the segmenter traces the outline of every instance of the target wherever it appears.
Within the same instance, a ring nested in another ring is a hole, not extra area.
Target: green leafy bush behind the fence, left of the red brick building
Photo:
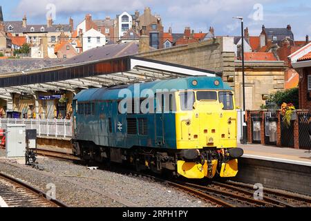
[[[283,103],[293,104],[297,109],[299,108],[299,90],[298,88],[292,88],[288,90],[279,90],[274,94],[270,94],[268,102],[275,102],[278,106]]]

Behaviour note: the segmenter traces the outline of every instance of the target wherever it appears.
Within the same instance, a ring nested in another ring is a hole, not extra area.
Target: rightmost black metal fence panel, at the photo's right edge
[[[309,149],[311,146],[310,136],[309,136],[309,125],[308,119],[311,117],[308,112],[299,112],[299,148]]]

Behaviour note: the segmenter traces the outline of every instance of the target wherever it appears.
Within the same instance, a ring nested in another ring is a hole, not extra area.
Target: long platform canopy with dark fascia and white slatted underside
[[[79,64],[66,64],[0,75],[0,98],[12,99],[12,93],[35,95],[37,92],[133,84],[156,79],[221,75],[210,70],[191,68],[141,57],[118,57]]]

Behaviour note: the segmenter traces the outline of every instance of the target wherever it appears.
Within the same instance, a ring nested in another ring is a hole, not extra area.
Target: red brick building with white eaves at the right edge
[[[311,43],[289,56],[299,73],[299,107],[311,111]]]

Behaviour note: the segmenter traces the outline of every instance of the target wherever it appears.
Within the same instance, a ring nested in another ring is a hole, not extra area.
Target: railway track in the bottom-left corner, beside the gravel
[[[0,173],[0,196],[1,206],[67,207],[59,200],[48,200],[46,193],[5,173]]]

